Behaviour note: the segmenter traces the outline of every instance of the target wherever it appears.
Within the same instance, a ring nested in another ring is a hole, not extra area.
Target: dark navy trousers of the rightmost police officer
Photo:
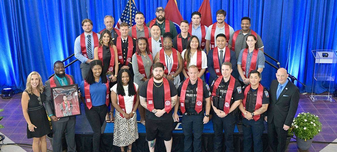
[[[263,118],[259,118],[257,121],[254,119],[247,120],[242,119],[242,131],[244,138],[243,151],[252,151],[252,143],[254,141],[254,152],[262,152],[262,134],[265,130]]]

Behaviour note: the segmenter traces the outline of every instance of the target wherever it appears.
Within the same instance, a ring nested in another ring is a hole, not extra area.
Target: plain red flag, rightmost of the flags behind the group
[[[201,20],[200,20],[200,22],[202,24],[204,24],[207,27],[209,27],[210,25],[213,24],[212,13],[211,13],[211,5],[210,5],[210,1],[209,0],[204,0],[203,1],[203,3],[201,4],[198,12],[201,13]],[[166,16],[166,14],[165,14],[165,16]]]

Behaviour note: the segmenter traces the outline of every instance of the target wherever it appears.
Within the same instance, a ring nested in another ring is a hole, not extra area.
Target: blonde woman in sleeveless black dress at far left
[[[34,152],[47,152],[46,136],[52,133],[47,112],[43,106],[45,94],[41,75],[35,71],[27,77],[26,90],[22,93],[21,105],[27,121],[27,138],[33,138]]]

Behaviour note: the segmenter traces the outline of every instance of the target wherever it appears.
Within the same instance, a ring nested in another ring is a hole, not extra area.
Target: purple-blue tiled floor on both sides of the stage
[[[32,139],[27,139],[26,120],[22,113],[21,94],[16,94],[11,99],[0,98],[0,109],[5,109],[0,112],[0,116],[5,116],[0,124],[5,128],[0,129],[1,133],[5,134],[9,139],[15,143],[32,144]],[[316,101],[312,102],[309,94],[301,95],[297,113],[310,112],[318,115],[320,122],[323,124],[322,131],[315,136],[314,141],[331,142],[337,139],[337,102]],[[295,141],[292,139],[292,141]],[[309,152],[318,152],[328,144],[313,143],[309,148]],[[52,146],[47,139],[47,147],[52,149]],[[26,151],[32,151],[31,148],[23,148]],[[288,152],[301,152],[296,142],[289,143]]]

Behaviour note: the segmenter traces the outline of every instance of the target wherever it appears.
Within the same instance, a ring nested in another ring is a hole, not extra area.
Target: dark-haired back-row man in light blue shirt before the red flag
[[[192,23],[190,23],[190,25],[189,25],[190,27],[188,29],[188,33],[198,37],[200,47],[204,51],[206,51],[206,49],[205,49],[205,45],[206,45],[205,37],[206,37],[206,32],[208,30],[208,27],[204,26],[202,23],[200,23],[200,20],[201,20],[201,13],[197,12],[197,11],[193,12],[192,16],[191,16]],[[204,34],[204,36],[203,36],[203,34]]]

